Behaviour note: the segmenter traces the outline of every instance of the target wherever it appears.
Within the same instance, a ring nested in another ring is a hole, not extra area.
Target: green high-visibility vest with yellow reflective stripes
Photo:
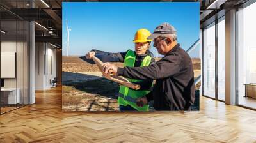
[[[124,66],[134,67],[135,59],[136,59],[136,55],[135,55],[134,51],[128,50],[127,54],[125,55]],[[152,57],[146,56],[143,59],[143,62],[141,63],[140,66],[141,67],[149,66],[151,59],[152,59]],[[127,79],[130,82],[140,82],[141,81],[141,80],[136,80],[136,79],[129,79],[129,78],[127,78]],[[152,86],[153,86],[153,84],[152,84]],[[136,91],[134,89],[129,89],[129,87],[126,87],[126,86],[120,86],[119,94],[118,94],[118,104],[124,105],[124,106],[130,105],[131,107],[133,107],[134,109],[136,109],[138,111],[148,111],[149,105],[144,105],[143,107],[138,107],[136,105],[136,99],[139,97],[145,96],[149,92],[150,92],[149,89]]]

